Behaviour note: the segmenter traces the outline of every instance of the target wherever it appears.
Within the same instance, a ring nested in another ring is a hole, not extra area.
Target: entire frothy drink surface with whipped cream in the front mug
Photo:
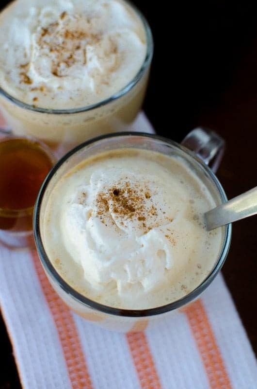
[[[84,296],[124,309],[161,306],[213,268],[222,231],[208,232],[202,215],[215,205],[182,160],[114,150],[57,183],[43,242],[59,274]]]

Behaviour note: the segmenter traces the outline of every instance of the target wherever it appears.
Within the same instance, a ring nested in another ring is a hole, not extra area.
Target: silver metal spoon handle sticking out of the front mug
[[[257,186],[204,214],[207,230],[225,226],[257,213]]]

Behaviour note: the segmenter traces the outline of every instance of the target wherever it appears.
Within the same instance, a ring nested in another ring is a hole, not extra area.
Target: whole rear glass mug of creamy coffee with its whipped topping
[[[16,133],[67,149],[135,118],[151,37],[127,2],[16,0],[0,33],[0,104]]]

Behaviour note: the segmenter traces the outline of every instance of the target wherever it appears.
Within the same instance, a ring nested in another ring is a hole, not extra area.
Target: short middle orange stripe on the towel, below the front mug
[[[127,335],[128,346],[142,389],[161,389],[154,360],[144,332]]]

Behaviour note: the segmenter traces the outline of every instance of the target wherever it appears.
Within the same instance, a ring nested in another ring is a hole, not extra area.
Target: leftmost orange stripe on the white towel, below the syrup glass
[[[93,386],[74,319],[68,307],[50,285],[37,252],[32,250],[31,253],[41,287],[58,331],[72,389],[92,389]]]

